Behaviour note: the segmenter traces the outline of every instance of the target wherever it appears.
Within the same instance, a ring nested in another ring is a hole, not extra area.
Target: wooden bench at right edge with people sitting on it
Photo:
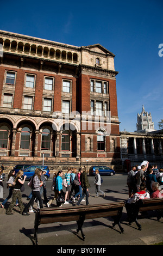
[[[141,225],[137,222],[137,216],[139,212],[153,211],[157,212],[157,220],[159,221],[163,217],[163,199],[161,198],[149,198],[139,199],[136,203],[127,204],[126,210],[128,215],[129,225],[135,222],[139,230],[142,230]]]

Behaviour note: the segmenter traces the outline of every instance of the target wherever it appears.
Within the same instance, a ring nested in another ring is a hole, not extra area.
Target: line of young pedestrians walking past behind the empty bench
[[[54,173],[53,176],[53,184],[52,191],[54,191],[54,198],[48,200],[47,199],[47,191],[46,191],[46,180],[45,180],[45,172],[40,168],[36,168],[35,174],[32,179],[28,183],[28,186],[32,188],[32,192],[29,194],[27,199],[29,200],[26,206],[23,205],[22,202],[22,191],[24,182],[27,178],[26,175],[23,175],[23,170],[19,170],[15,177],[15,170],[11,170],[8,174],[7,187],[9,188],[8,197],[3,201],[1,207],[4,208],[5,203],[12,197],[9,208],[6,211],[7,215],[12,215],[12,209],[14,206],[18,205],[20,208],[20,214],[29,215],[29,212],[34,212],[33,205],[34,202],[37,202],[37,208],[43,208],[43,200],[42,193],[45,203],[49,208],[52,203],[56,201],[56,204],[59,208],[61,208],[62,204],[75,203],[77,200],[77,206],[80,205],[81,202],[85,202],[86,205],[89,205],[89,179],[87,177],[85,167],[79,168],[78,172],[76,168],[68,169],[65,177],[63,179],[62,170]],[[1,178],[1,175],[0,175]],[[105,193],[100,189],[101,187],[101,176],[99,175],[98,170],[96,170],[95,176],[95,192],[96,196],[99,196],[99,193],[102,193],[103,197],[105,197]],[[3,186],[3,183],[0,185]],[[64,190],[66,190],[64,192]],[[1,197],[3,198],[3,197]],[[62,198],[62,199],[60,199]],[[85,199],[84,199],[85,198]]]

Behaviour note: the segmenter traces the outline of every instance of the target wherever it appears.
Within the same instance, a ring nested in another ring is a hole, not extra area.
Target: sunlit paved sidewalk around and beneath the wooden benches
[[[124,200],[124,194],[118,194],[118,199],[115,193],[106,193],[105,198],[94,196],[95,194],[90,196],[90,204]],[[23,202],[28,201],[23,198]],[[85,202],[82,203],[85,205]],[[70,204],[62,207],[70,207]],[[36,204],[34,208],[36,209]],[[34,245],[35,214],[22,216],[19,210],[15,207],[14,215],[5,215],[5,209],[0,208],[0,245]],[[163,218],[160,222],[156,221],[155,212],[149,212],[147,218],[139,218],[139,223],[142,225],[141,231],[137,229],[135,223],[129,226],[126,217],[126,210],[123,208],[121,219],[123,234],[120,234],[118,226],[112,228],[113,221],[110,217],[86,220],[83,225],[85,241],[81,239],[80,234],[78,236],[74,234],[77,228],[76,222],[42,224],[38,230],[38,242],[39,245],[93,247],[97,245],[151,245],[163,241]]]

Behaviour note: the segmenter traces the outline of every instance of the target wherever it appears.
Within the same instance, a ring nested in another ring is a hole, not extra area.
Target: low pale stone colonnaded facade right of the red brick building
[[[120,132],[121,159],[124,167],[126,160],[130,166],[140,165],[147,160],[150,164],[163,166],[163,130],[153,132]],[[126,168],[126,167],[124,167]]]

